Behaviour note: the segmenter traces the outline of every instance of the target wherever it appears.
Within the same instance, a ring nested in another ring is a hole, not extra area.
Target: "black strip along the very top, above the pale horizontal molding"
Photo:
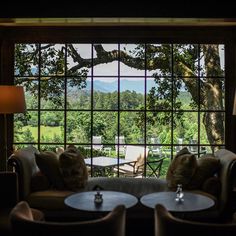
[[[0,17],[235,17],[234,1],[16,1],[4,3]]]

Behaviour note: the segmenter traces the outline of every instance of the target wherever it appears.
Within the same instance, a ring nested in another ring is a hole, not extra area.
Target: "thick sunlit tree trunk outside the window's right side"
[[[217,145],[224,143],[224,114],[220,112],[223,106],[223,81],[220,67],[220,57],[217,45],[203,45],[205,55],[206,81],[201,87],[201,97],[203,109],[203,124],[206,128],[207,137],[210,144]],[[210,112],[215,110],[217,112]],[[219,111],[219,112],[218,112]],[[219,149],[219,146],[212,146],[212,151]]]

